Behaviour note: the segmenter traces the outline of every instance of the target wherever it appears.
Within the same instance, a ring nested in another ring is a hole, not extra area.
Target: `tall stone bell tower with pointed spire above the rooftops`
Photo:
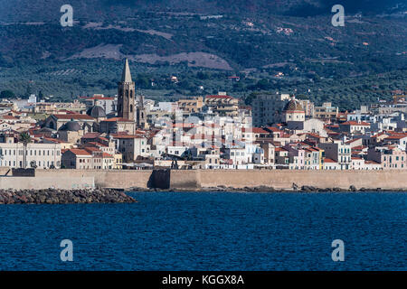
[[[135,118],[135,84],[131,79],[128,59],[125,61],[121,81],[118,82],[118,117],[134,120]]]

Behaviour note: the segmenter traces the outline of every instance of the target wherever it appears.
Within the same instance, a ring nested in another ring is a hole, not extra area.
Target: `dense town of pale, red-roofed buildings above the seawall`
[[[137,95],[125,61],[116,96],[0,106],[0,166],[39,169],[405,170],[397,104],[340,111],[261,92],[251,106],[219,92],[156,102]],[[37,116],[41,112],[41,118]],[[23,141],[22,135],[28,140]],[[25,151],[25,155],[24,155]]]

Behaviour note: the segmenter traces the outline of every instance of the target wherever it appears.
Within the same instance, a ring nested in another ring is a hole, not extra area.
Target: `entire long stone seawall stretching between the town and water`
[[[7,170],[0,169],[1,172],[5,174]],[[19,182],[15,182],[17,178]],[[20,187],[22,183],[24,187]],[[46,183],[63,184],[61,189],[87,187],[94,183],[99,188],[125,190],[168,187],[183,191],[204,191],[215,187],[292,190],[303,186],[342,190],[348,190],[350,186],[356,190],[407,190],[407,171],[172,170],[159,172],[157,177],[153,171],[36,170],[35,178],[0,177],[0,185],[6,189],[43,189]]]

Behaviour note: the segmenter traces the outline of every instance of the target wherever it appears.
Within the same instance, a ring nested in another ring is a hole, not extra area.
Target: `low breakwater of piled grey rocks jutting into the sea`
[[[0,204],[71,204],[137,202],[123,191],[96,190],[0,190]]]

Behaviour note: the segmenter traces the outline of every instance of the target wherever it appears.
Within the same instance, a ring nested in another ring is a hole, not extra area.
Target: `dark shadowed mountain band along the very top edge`
[[[0,0],[0,21],[52,21],[59,19],[64,0]],[[333,5],[350,14],[392,14],[406,11],[401,0],[70,0],[80,19],[118,19],[134,12],[170,11],[195,14],[329,14]]]

